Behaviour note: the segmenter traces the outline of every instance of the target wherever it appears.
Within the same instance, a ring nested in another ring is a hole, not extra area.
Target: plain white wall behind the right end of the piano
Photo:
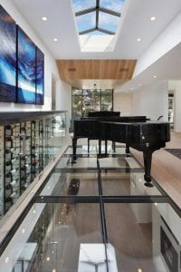
[[[163,115],[163,121],[168,119],[168,86],[167,81],[158,81],[133,92],[133,115],[146,115],[156,120]]]

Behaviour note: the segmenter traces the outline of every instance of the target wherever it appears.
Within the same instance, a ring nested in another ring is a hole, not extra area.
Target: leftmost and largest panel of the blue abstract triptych
[[[16,100],[16,24],[0,5],[0,102]]]

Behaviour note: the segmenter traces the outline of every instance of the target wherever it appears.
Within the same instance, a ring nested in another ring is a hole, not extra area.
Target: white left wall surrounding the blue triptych
[[[5,8],[7,13],[12,15],[16,24],[19,24],[26,34],[33,40],[44,53],[44,105],[27,105],[27,104],[14,104],[7,102],[0,102],[0,112],[14,112],[14,111],[49,111],[52,107],[52,73],[57,77],[58,70],[52,55],[45,48],[41,40],[34,33],[33,29],[25,21],[24,17],[19,13],[16,7],[10,0],[0,0],[0,4]],[[62,110],[62,109],[59,109]],[[64,110],[64,109],[63,109]]]

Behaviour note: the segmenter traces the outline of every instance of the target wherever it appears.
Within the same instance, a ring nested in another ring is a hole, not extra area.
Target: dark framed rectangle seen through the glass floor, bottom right
[[[169,229],[167,228],[169,231]],[[169,235],[172,237],[171,232]],[[160,227],[160,249],[170,272],[178,272],[178,254],[164,228]]]

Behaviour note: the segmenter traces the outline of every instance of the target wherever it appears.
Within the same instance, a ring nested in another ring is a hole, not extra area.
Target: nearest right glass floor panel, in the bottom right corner
[[[119,271],[179,271],[181,219],[168,203],[106,203],[105,215]]]

